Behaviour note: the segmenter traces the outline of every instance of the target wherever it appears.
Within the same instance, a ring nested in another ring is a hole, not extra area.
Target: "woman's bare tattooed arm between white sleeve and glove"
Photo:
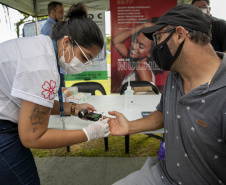
[[[82,130],[49,129],[51,109],[22,100],[18,130],[27,148],[58,148],[87,141]]]

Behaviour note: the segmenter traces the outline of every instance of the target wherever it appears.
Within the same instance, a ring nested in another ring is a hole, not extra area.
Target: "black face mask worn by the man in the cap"
[[[159,66],[160,69],[164,71],[169,71],[174,61],[179,56],[181,49],[184,45],[184,41],[178,47],[174,56],[172,56],[169,47],[167,45],[168,40],[172,37],[174,32],[172,32],[162,43],[154,46],[153,49],[153,58],[155,63]]]

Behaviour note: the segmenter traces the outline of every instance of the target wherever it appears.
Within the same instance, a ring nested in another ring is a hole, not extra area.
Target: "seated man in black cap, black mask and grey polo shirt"
[[[115,185],[226,184],[226,57],[210,44],[212,18],[193,5],[178,5],[142,30],[155,43],[153,57],[170,70],[156,111],[128,121],[109,120],[112,135],[164,127],[166,156],[148,158],[141,170]],[[152,102],[150,102],[152,103]]]

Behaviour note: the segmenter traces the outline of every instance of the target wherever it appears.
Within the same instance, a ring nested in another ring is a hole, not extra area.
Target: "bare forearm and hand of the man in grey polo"
[[[163,113],[158,110],[135,121],[128,121],[123,114],[116,111],[109,112],[109,114],[116,117],[110,118],[108,122],[110,125],[111,135],[122,136],[145,131],[153,131],[164,127]]]

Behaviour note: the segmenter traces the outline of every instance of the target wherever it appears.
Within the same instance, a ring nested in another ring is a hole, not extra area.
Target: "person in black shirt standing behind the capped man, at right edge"
[[[204,13],[210,14],[210,1],[209,0],[193,0],[192,5],[200,8]],[[215,51],[221,51],[226,53],[226,21],[212,17],[214,20],[212,26],[212,39],[211,44]]]

